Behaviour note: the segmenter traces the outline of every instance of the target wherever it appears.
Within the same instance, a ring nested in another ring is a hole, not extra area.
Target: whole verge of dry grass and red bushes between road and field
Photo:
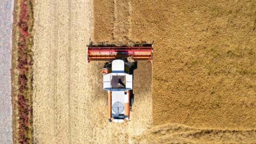
[[[12,49],[13,143],[32,144],[33,0],[16,0]]]

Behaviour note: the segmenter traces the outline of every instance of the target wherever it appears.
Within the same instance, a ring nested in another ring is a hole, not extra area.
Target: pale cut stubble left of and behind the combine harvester
[[[132,121],[109,123],[107,93],[102,90],[100,71],[104,63],[85,62],[85,46],[93,32],[92,2],[49,0],[35,1],[35,4],[35,142],[127,142],[129,136],[149,128],[151,64],[142,62],[135,71]]]

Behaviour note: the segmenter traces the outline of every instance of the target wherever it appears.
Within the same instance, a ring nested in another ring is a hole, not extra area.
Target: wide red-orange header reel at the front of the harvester
[[[127,59],[132,56],[134,61],[152,61],[152,44],[145,41],[127,43],[90,42],[87,48],[87,61],[113,61]]]

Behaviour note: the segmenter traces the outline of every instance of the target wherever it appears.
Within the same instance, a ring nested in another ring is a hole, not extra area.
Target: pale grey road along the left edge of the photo
[[[12,143],[11,31],[13,0],[0,0],[0,144]]]

